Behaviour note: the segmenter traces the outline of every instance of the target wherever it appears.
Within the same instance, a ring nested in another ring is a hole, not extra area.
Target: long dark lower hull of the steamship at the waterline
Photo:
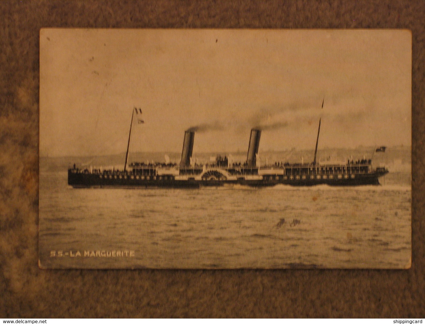
[[[388,172],[388,171],[387,171]],[[99,177],[98,174],[92,173],[74,173],[72,170],[68,170],[68,185],[73,186],[74,188],[111,188],[111,187],[121,187],[121,188],[199,188],[201,186],[205,187],[214,187],[214,186],[252,186],[252,187],[268,187],[276,186],[278,184],[290,185],[290,186],[316,186],[326,184],[329,186],[365,186],[365,185],[379,185],[379,177],[385,175],[387,172],[371,172],[371,173],[361,173],[343,175],[342,178],[338,178],[335,175],[332,179],[329,179],[327,176],[326,179],[311,179],[306,177],[306,179],[297,179],[293,177],[290,179],[279,178],[277,177],[264,177],[263,180],[174,180],[173,178],[167,180],[159,180],[154,177],[151,177],[151,180],[136,180],[122,178],[106,178]]]

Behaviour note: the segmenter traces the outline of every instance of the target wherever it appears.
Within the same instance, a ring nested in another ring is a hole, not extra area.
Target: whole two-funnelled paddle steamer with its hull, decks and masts
[[[134,111],[133,111],[134,116]],[[130,124],[133,124],[133,116]],[[227,156],[217,156],[210,163],[196,164],[192,160],[195,132],[184,133],[180,163],[129,163],[128,145],[123,170],[68,169],[68,185],[77,187],[165,187],[199,188],[201,186],[234,186],[235,184],[266,187],[278,184],[290,186],[362,186],[379,185],[379,178],[388,173],[385,167],[372,167],[371,159],[357,161],[316,161],[317,132],[314,160],[311,163],[281,163],[257,166],[261,129],[252,129],[246,161],[233,162]]]

